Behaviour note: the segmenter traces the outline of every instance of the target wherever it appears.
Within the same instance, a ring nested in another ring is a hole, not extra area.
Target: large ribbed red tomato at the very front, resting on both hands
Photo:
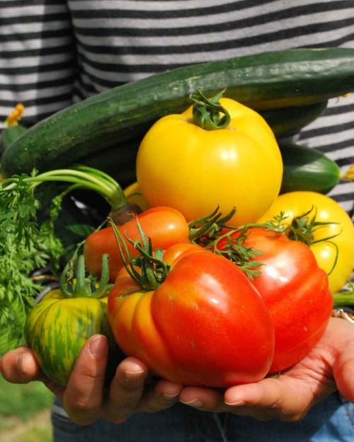
[[[125,354],[184,385],[227,387],[268,373],[274,330],[249,279],[229,260],[195,245],[174,245],[171,270],[143,290],[125,269],[108,297],[108,318]]]

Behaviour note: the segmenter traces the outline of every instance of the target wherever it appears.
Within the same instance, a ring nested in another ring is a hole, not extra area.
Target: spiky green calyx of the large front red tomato
[[[151,238],[147,238],[147,235],[145,235],[137,216],[135,219],[137,221],[137,228],[139,230],[141,242],[126,238],[135,250],[137,250],[137,255],[134,257],[130,255],[130,251],[127,248],[127,242],[122,237],[122,234],[113,220],[108,218],[108,223],[113,228],[120,257],[122,258],[125,269],[127,269],[132,280],[144,290],[155,290],[164,282],[169,274],[171,266],[163,260],[164,250],[154,250]]]

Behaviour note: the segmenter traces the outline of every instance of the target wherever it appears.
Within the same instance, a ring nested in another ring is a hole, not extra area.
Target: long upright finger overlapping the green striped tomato
[[[108,341],[93,335],[82,347],[63,395],[64,408],[76,424],[91,424],[101,417]]]

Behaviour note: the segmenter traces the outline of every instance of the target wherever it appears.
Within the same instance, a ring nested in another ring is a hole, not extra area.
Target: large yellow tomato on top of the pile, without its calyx
[[[236,207],[229,223],[256,221],[278,196],[282,158],[263,117],[229,98],[226,129],[205,130],[192,107],[167,115],[149,129],[137,153],[137,181],[150,207],[178,209],[188,221],[219,206]]]

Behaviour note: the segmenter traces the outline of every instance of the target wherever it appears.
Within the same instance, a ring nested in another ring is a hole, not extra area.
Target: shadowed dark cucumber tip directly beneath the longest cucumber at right
[[[311,105],[263,110],[259,113],[272,128],[275,136],[289,136],[316,120],[326,109],[328,100]]]

